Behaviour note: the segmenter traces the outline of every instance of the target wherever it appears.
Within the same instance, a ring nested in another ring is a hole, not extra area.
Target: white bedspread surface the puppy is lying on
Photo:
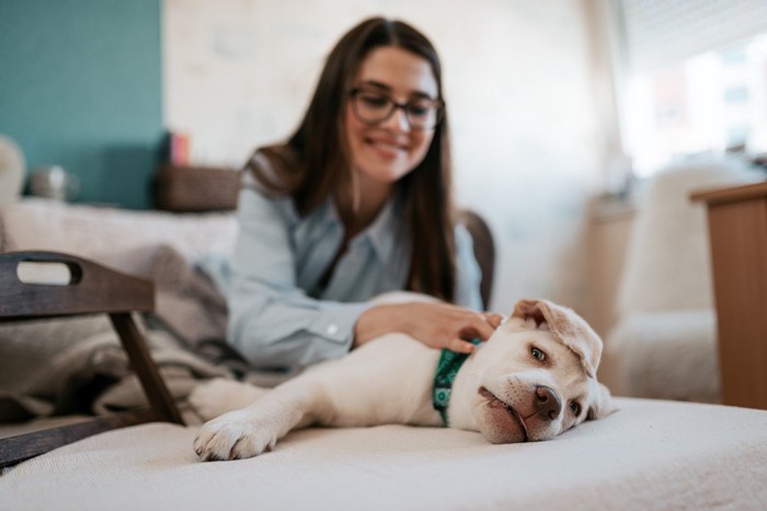
[[[553,441],[382,426],[295,432],[274,452],[202,463],[196,427],[85,439],[0,477],[25,509],[765,509],[767,411],[618,398]]]

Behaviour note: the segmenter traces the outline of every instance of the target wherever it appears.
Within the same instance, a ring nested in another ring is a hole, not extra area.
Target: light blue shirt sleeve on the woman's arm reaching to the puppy
[[[245,177],[231,259],[228,340],[255,368],[297,368],[339,358],[368,303],[308,297],[296,283],[288,199],[266,197]],[[294,213],[295,214],[295,213]]]

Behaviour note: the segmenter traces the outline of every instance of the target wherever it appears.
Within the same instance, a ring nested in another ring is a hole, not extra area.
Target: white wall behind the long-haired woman
[[[197,163],[240,165],[298,123],[363,18],[420,27],[444,63],[457,199],[499,243],[493,309],[585,306],[585,204],[603,176],[588,0],[165,0],[164,119]]]

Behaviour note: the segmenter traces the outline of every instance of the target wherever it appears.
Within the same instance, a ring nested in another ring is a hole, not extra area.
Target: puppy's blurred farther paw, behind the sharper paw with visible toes
[[[251,405],[265,392],[248,383],[216,378],[197,385],[187,402],[203,420],[210,420]]]

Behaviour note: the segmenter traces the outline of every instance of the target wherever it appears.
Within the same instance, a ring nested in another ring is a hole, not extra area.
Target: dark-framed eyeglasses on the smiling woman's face
[[[417,131],[434,129],[442,120],[445,103],[442,100],[419,97],[407,103],[397,103],[388,95],[367,89],[352,89],[352,111],[362,123],[376,125],[391,117],[401,108],[408,126]]]

